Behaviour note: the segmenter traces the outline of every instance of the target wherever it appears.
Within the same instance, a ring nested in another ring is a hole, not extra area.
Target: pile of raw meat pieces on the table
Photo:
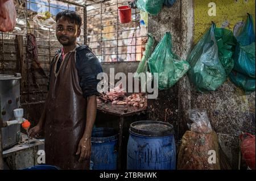
[[[144,108],[147,107],[147,95],[144,93],[134,93],[127,96],[122,89],[115,88],[98,96],[97,102]]]

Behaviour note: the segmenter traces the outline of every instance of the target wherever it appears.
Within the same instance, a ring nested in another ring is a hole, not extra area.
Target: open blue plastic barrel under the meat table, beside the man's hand
[[[113,128],[94,128],[92,132],[92,170],[117,169],[118,133]]]

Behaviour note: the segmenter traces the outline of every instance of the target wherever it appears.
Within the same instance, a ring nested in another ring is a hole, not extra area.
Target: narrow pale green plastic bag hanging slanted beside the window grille
[[[148,33],[148,41],[147,41],[147,45],[146,45],[146,50],[143,52],[143,57],[141,59],[141,62],[139,63],[139,66],[137,68],[136,73],[134,75],[134,78],[139,78],[139,74],[140,73],[146,73],[148,71],[148,58],[150,58],[151,53],[154,50],[154,43],[155,43],[155,39],[154,37],[151,35],[151,33]]]

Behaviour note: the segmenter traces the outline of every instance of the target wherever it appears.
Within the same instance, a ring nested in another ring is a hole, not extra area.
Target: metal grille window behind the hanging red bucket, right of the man
[[[140,61],[146,36],[141,36],[140,11],[132,9],[130,23],[121,24],[118,7],[127,0],[112,0],[86,6],[86,44],[101,62]]]

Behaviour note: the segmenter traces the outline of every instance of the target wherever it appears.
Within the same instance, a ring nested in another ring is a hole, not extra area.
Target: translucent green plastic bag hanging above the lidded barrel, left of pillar
[[[174,86],[190,67],[187,61],[181,60],[180,57],[172,53],[170,32],[167,32],[156,46],[148,60],[148,66],[152,74],[158,73],[158,88],[160,90]]]

